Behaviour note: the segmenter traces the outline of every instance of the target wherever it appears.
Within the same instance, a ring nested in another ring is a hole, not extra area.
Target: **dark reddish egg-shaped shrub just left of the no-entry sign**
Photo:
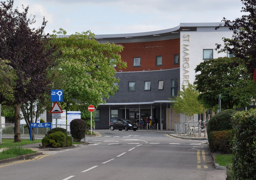
[[[80,142],[85,136],[86,123],[82,119],[73,119],[70,122],[70,133],[74,142]]]

